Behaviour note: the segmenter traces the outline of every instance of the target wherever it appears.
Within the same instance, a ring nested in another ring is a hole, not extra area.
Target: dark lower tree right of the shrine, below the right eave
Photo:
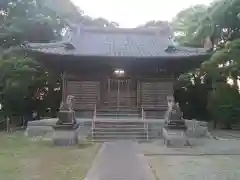
[[[212,118],[226,127],[239,120],[240,40],[226,43],[200,69],[180,76],[176,100],[190,118]],[[207,113],[208,112],[208,113]],[[209,116],[210,115],[210,116]]]

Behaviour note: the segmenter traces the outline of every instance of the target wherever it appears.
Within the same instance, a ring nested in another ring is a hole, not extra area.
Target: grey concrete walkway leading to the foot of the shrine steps
[[[132,141],[104,143],[85,180],[155,180],[139,149]]]

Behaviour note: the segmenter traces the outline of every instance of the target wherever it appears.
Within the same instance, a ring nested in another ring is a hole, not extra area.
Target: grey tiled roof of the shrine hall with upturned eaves
[[[170,32],[159,29],[121,29],[78,27],[58,43],[29,43],[28,48],[43,53],[108,57],[181,57],[205,55],[204,48],[176,47]],[[66,48],[67,47],[67,48]]]

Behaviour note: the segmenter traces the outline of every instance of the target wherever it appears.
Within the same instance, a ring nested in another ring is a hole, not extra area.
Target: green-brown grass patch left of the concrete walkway
[[[99,147],[90,143],[56,147],[31,141],[23,133],[0,133],[0,179],[82,180]]]

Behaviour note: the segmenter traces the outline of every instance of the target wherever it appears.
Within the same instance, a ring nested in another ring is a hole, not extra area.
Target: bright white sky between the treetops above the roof
[[[115,21],[123,28],[133,28],[150,20],[171,20],[179,11],[212,0],[72,0],[93,18]]]

